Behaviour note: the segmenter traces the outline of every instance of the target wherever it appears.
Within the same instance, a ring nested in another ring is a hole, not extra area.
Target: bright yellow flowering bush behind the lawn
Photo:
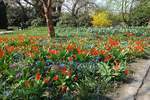
[[[107,12],[98,12],[92,16],[92,25],[95,27],[110,26],[112,21],[108,18]]]

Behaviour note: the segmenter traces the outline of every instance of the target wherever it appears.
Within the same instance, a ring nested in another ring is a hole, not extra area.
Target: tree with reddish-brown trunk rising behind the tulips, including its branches
[[[6,0],[11,7],[17,10],[21,15],[21,22],[28,22],[33,19],[45,18],[45,22],[48,26],[48,36],[55,37],[54,26],[61,15],[61,6],[64,0]],[[20,8],[20,12],[17,8]],[[34,14],[33,14],[34,13]],[[16,16],[15,16],[16,17]],[[16,19],[17,20],[17,19]],[[36,23],[37,21],[35,21]]]

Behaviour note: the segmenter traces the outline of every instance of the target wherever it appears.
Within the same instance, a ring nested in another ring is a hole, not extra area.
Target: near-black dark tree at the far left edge
[[[6,13],[6,5],[3,0],[0,0],[0,28],[7,29],[7,27],[8,27],[8,20]]]

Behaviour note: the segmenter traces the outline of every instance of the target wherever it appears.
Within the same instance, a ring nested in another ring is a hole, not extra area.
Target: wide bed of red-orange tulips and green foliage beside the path
[[[150,48],[146,32],[119,33],[51,40],[44,34],[1,36],[0,98],[70,100],[108,93],[127,79],[127,63]]]

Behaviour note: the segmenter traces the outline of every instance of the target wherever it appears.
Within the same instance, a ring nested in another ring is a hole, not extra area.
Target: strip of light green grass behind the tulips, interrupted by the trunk
[[[116,34],[122,32],[132,32],[136,34],[144,34],[147,31],[146,27],[130,27],[130,28],[93,28],[93,27],[55,27],[55,32],[57,36],[71,36],[71,35],[79,35],[79,36],[89,36],[95,33],[98,34]],[[4,30],[0,30],[4,31]],[[47,27],[29,27],[25,30],[18,30],[14,28],[14,32],[9,35],[4,36],[15,36],[18,34],[26,34],[26,35],[33,35],[33,36],[41,36],[47,35]]]

